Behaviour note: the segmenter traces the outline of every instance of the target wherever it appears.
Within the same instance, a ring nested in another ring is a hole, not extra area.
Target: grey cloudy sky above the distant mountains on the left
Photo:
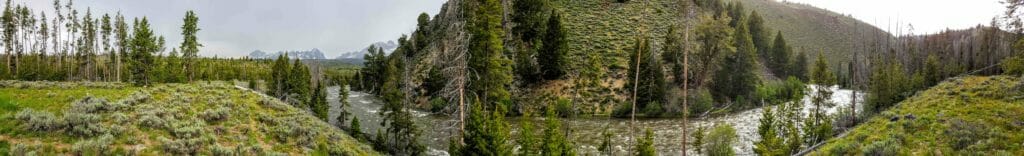
[[[62,0],[67,1],[67,0]],[[168,49],[181,42],[186,10],[200,17],[202,55],[242,56],[319,48],[328,57],[409,34],[421,12],[433,16],[445,0],[76,0],[81,14],[121,11],[148,16]],[[52,0],[14,0],[53,16]],[[94,15],[99,16],[99,15]],[[129,24],[130,25],[130,24]]]

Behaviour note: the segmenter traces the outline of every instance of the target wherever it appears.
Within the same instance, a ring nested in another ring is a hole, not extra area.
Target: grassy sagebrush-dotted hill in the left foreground
[[[340,129],[224,82],[0,81],[0,153],[376,155]]]

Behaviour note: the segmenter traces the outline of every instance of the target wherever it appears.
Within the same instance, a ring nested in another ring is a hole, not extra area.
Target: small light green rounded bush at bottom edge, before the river
[[[711,129],[711,133],[708,134],[708,143],[705,144],[705,150],[708,151],[708,155],[710,156],[736,155],[732,151],[732,145],[738,142],[737,138],[736,129],[732,125],[718,123],[715,128]]]

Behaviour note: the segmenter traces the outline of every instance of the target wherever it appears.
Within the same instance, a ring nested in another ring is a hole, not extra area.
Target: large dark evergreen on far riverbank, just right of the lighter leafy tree
[[[719,100],[751,98],[761,80],[757,72],[757,54],[746,26],[736,29],[736,52],[729,53],[715,73],[711,91]],[[740,104],[745,105],[745,104]]]

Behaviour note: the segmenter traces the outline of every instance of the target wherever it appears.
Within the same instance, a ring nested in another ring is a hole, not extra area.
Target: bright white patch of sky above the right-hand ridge
[[[988,26],[1006,7],[1000,0],[787,0],[852,14],[865,23],[896,32],[896,22],[913,25],[914,34],[936,33],[946,28],[967,29]]]

